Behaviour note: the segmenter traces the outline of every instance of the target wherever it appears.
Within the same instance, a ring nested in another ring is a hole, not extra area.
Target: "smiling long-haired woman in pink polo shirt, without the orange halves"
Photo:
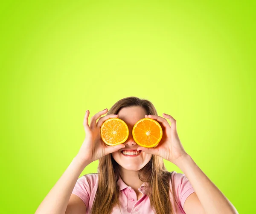
[[[157,116],[150,101],[126,97],[109,111],[91,117],[90,126],[89,114],[87,110],[83,124],[86,136],[78,154],[35,214],[238,213],[186,153],[176,120],[169,114]],[[121,145],[107,146],[100,137],[100,127],[105,120],[117,117],[128,125],[129,137]],[[142,118],[157,120],[163,128],[163,137],[155,148],[140,147],[133,140],[132,128]],[[125,156],[123,150],[138,155]],[[163,159],[177,165],[184,174],[167,171]],[[95,160],[99,160],[98,173],[79,178]]]

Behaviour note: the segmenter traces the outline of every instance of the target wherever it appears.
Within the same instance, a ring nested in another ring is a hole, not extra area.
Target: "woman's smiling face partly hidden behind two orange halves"
[[[122,154],[121,152],[124,150],[134,150],[135,152],[137,151],[139,145],[134,141],[132,137],[132,128],[138,120],[145,118],[145,114],[147,114],[145,109],[140,106],[125,107],[119,111],[118,118],[125,121],[127,124],[129,128],[129,137],[125,143],[123,143],[125,148],[121,148],[111,154],[113,159],[121,166],[121,168],[138,171],[143,168],[152,157],[152,154],[147,154],[142,151],[136,156],[125,156],[125,154]]]

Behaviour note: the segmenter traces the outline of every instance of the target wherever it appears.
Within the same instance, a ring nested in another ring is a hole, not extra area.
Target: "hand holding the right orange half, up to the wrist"
[[[176,120],[169,114],[163,114],[165,118],[169,119],[171,126],[168,121],[157,115],[145,115],[145,118],[151,118],[156,120],[163,129],[163,137],[155,148],[138,147],[137,151],[141,150],[148,154],[154,154],[163,157],[166,160],[176,165],[177,160],[184,154],[187,154],[177,133]]]

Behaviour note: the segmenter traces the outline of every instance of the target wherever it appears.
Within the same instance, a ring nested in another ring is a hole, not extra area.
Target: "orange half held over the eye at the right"
[[[156,120],[143,118],[135,123],[132,136],[140,146],[151,148],[157,146],[162,139],[163,129]]]

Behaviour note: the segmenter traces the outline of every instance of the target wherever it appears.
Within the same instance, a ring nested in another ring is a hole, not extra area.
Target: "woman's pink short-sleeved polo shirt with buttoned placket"
[[[89,178],[89,183],[87,182],[85,175],[81,176],[72,191],[83,200],[87,207],[87,213],[91,213],[91,208],[93,205],[93,200],[98,187],[98,173],[87,174]],[[176,214],[185,214],[183,211],[183,206],[187,197],[195,192],[191,183],[184,174],[177,173],[174,171],[172,173],[172,181],[174,180],[174,190],[177,195],[177,212]],[[128,185],[126,185],[121,178],[117,181],[119,184],[119,201],[121,206],[122,214],[154,214],[154,211],[150,207],[149,197],[145,194],[144,186],[141,185],[138,189],[143,196],[137,200],[137,195],[135,191]],[[91,187],[91,188],[90,188]],[[170,182],[170,188],[172,188],[172,183]],[[171,194],[170,194],[171,197]],[[174,208],[174,200],[170,198],[172,207]],[[121,214],[119,207],[113,208],[111,214]]]

